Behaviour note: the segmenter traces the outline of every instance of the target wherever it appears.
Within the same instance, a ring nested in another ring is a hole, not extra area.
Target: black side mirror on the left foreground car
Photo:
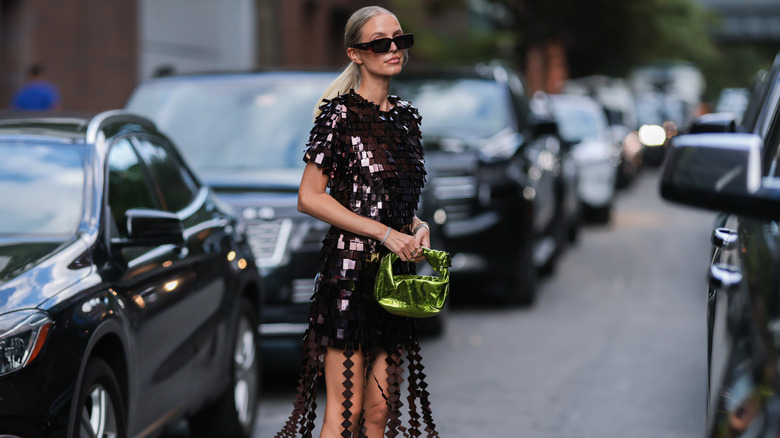
[[[127,238],[112,239],[114,245],[128,247],[184,243],[184,225],[175,213],[133,208],[125,212],[125,217]]]

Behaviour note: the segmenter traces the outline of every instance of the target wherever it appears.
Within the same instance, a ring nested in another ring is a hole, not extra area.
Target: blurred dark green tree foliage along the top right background
[[[749,86],[777,51],[718,46],[708,32],[718,19],[696,0],[481,1],[490,13],[478,13],[467,0],[391,0],[404,27],[417,36],[414,63],[498,58],[522,66],[529,47],[554,40],[566,47],[571,77],[625,76],[638,64],[687,60],[702,69],[707,97],[714,99],[722,87]]]

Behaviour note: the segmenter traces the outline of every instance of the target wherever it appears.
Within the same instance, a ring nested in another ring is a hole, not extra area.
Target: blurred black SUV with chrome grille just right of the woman
[[[507,302],[532,302],[537,272],[552,271],[579,224],[566,210],[576,204],[565,203],[573,190],[555,123],[531,112],[522,80],[502,66],[405,72],[391,86],[422,116],[422,209],[453,254],[453,277],[497,279]]]

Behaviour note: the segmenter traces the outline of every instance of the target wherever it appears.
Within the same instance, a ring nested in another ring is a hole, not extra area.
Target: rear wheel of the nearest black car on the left
[[[260,389],[258,317],[252,304],[242,301],[233,336],[230,386],[215,403],[190,419],[194,437],[250,437],[257,416]]]

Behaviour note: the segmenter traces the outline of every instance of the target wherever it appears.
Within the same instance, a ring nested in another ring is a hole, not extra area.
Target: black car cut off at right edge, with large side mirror
[[[673,139],[661,180],[665,199],[720,212],[705,256],[707,437],[780,435],[780,55],[745,114]]]

